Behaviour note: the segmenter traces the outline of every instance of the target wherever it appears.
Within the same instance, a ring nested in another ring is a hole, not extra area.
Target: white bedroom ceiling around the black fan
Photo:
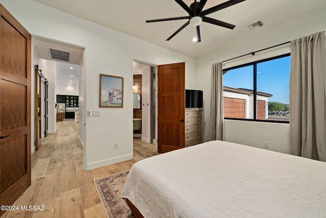
[[[207,15],[236,25],[234,30],[203,22],[200,25],[201,42],[192,41],[195,30],[187,26],[170,41],[166,39],[187,20],[146,23],[147,19],[187,16],[174,0],[34,0],[52,8],[99,23],[100,25],[166,47],[189,57],[200,57],[221,45],[230,44],[245,37],[296,20],[304,14],[326,9],[325,0],[247,0],[237,5]],[[189,6],[193,0],[184,0]],[[226,2],[207,0],[204,10]],[[263,20],[264,27],[251,31],[247,26]],[[321,20],[320,22],[324,22]],[[297,23],[300,27],[301,23]],[[277,34],[275,33],[276,37]]]

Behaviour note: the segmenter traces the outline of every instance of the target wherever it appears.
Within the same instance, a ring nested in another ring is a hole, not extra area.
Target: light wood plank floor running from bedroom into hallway
[[[65,119],[32,154],[32,185],[13,204],[44,205],[45,211],[7,211],[2,217],[106,217],[94,178],[126,171],[156,154],[154,144],[134,138],[132,160],[84,171],[78,123]]]

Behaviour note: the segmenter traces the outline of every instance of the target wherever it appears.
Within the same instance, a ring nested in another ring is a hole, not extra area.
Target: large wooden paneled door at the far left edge
[[[0,15],[0,205],[12,205],[31,185],[31,34]]]

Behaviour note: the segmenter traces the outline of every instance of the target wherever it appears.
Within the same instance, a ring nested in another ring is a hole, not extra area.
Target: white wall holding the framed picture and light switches
[[[132,158],[132,62],[154,65],[185,62],[185,87],[195,85],[195,60],[160,46],[96,25],[31,0],[0,0],[31,34],[85,47],[85,169]],[[123,108],[99,108],[99,74],[124,78]],[[80,78],[79,78],[80,79]],[[80,94],[80,93],[79,93]],[[115,142],[120,148],[115,149]]]

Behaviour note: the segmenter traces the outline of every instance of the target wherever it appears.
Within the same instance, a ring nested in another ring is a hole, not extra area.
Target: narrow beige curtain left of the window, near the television
[[[223,71],[222,62],[212,64],[210,95],[210,140],[223,140]]]

